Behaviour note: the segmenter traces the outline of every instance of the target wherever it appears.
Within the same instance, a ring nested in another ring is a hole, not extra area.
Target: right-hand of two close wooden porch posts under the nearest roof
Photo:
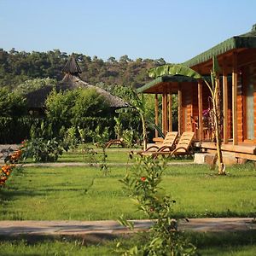
[[[233,145],[237,145],[237,53],[233,53],[232,72],[232,120],[233,120]]]

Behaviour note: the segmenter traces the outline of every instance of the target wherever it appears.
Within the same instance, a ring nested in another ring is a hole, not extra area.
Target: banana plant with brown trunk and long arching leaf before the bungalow
[[[185,67],[181,64],[177,65],[164,65],[152,68],[148,71],[148,76],[157,78],[164,75],[183,75],[193,79],[201,79],[207,84],[211,93],[212,110],[213,110],[213,127],[216,138],[217,160],[218,160],[218,174],[225,174],[225,166],[223,163],[223,156],[221,151],[221,109],[219,104],[219,67],[216,56],[212,57],[212,70],[211,70],[211,83],[207,81],[200,73],[195,70]]]

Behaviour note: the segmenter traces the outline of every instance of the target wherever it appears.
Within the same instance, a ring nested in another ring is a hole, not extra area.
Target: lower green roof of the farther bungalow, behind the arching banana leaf
[[[148,90],[156,84],[164,83],[164,82],[177,82],[177,83],[182,83],[182,82],[196,82],[196,79],[192,79],[189,77],[184,77],[180,75],[175,75],[175,76],[162,76],[158,77],[157,79],[154,79],[153,81],[150,81],[148,84],[143,85],[142,87],[137,89],[137,93],[141,93],[145,90]]]

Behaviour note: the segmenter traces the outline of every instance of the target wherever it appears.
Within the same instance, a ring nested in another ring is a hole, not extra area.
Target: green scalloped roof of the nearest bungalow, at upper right
[[[239,48],[256,48],[256,24],[253,25],[251,32],[229,38],[224,42],[212,47],[211,49],[201,53],[200,55],[196,55],[189,61],[183,62],[183,65],[187,67],[193,67],[197,64],[200,64],[201,62],[211,60],[213,55],[221,55],[231,49]]]

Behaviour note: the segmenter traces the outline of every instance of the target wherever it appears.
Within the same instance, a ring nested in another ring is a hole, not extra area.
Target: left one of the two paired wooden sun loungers
[[[153,154],[154,152],[158,152],[159,150],[168,150],[169,152],[175,148],[175,142],[177,139],[177,131],[169,131],[166,134],[166,137],[160,145],[152,145],[148,147],[144,151],[140,151],[137,154]]]

